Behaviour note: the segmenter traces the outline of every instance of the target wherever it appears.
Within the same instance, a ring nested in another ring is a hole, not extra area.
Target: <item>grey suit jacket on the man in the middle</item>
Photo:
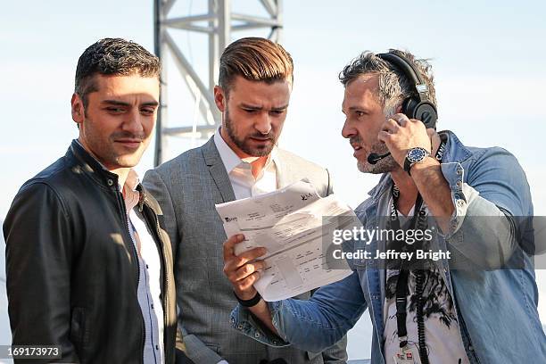
[[[327,170],[282,150],[278,160],[277,186],[308,178],[321,196],[332,192]],[[345,339],[327,352],[311,353],[272,348],[231,327],[229,313],[237,302],[222,271],[222,244],[227,236],[214,204],[233,201],[235,194],[213,138],[148,170],[143,184],[164,214],[175,257],[179,323],[187,355],[195,363],[216,364],[225,359],[230,364],[257,364],[277,358],[291,364],[345,362]]]

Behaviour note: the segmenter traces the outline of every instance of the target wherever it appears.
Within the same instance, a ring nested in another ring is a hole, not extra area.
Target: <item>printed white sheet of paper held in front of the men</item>
[[[278,301],[308,292],[349,276],[352,271],[329,269],[325,250],[331,231],[341,228],[352,209],[335,195],[320,198],[306,181],[269,194],[216,205],[227,236],[244,234],[236,245],[238,255],[257,246],[267,249],[266,268],[254,285],[266,301]],[[339,265],[339,262],[338,262]]]

